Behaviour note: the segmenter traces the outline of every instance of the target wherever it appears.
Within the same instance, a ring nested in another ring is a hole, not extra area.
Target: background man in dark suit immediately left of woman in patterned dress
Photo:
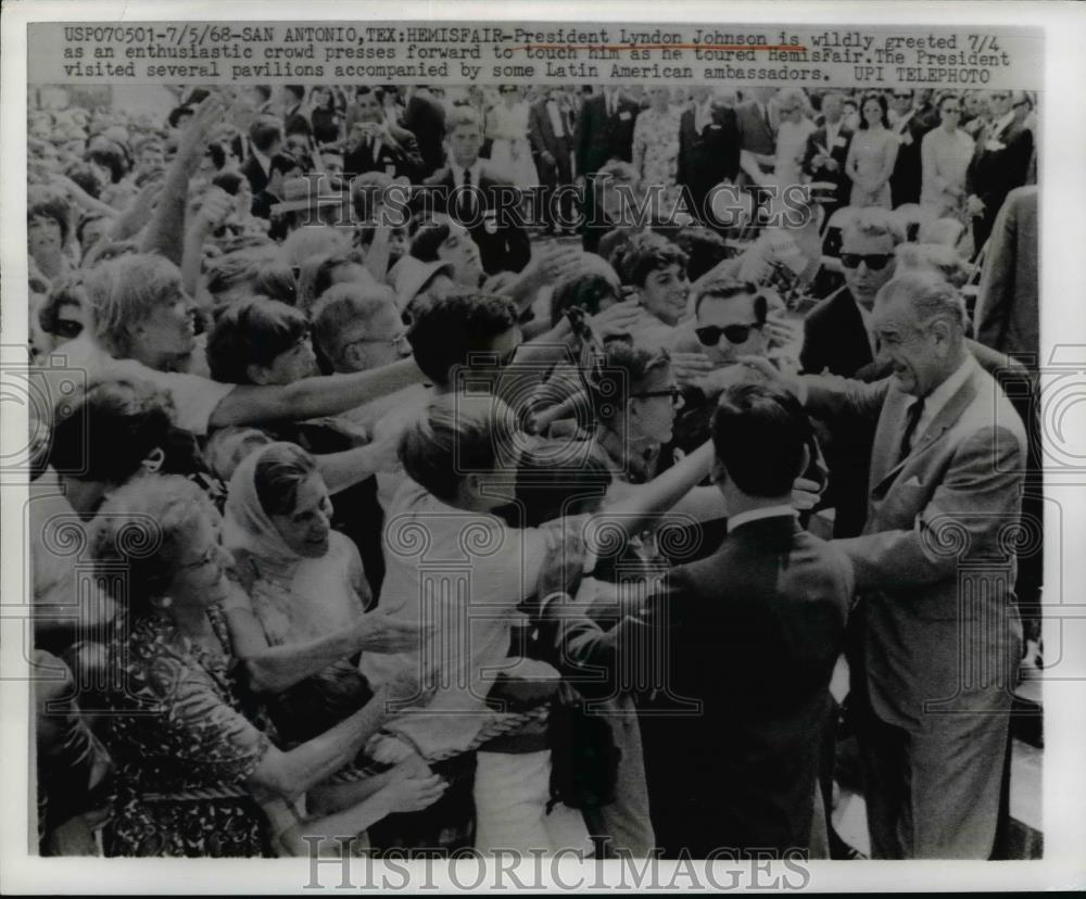
[[[609,229],[596,221],[595,174],[608,160],[630,162],[633,156],[633,126],[641,106],[622,96],[616,87],[605,86],[581,104],[577,116],[573,155],[577,183],[583,190],[583,246],[594,253]]]

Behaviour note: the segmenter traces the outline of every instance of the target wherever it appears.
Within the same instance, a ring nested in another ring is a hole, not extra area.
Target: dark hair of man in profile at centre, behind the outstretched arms
[[[434,383],[449,383],[449,369],[467,365],[498,334],[517,325],[517,309],[504,296],[454,293],[418,312],[407,340],[415,363]]]

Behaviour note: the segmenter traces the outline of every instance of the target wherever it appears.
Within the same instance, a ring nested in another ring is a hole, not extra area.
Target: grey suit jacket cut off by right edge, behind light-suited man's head
[[[1037,188],[1015,188],[996,217],[976,296],[976,339],[1002,353],[1039,362]]]

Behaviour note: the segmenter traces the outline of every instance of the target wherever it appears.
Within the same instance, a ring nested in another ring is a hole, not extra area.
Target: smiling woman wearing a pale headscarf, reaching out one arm
[[[235,597],[241,602],[228,606],[228,619],[253,683],[274,694],[269,711],[290,743],[368,701],[349,657],[417,648],[420,638],[417,628],[366,616],[362,559],[330,516],[315,460],[293,444],[255,451],[230,479],[225,543],[251,604]]]

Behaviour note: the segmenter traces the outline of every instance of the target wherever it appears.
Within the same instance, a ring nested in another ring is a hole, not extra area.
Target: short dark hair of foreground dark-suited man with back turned
[[[768,384],[735,384],[712,414],[712,445],[728,477],[748,496],[791,493],[813,441],[810,421],[791,393]]]

